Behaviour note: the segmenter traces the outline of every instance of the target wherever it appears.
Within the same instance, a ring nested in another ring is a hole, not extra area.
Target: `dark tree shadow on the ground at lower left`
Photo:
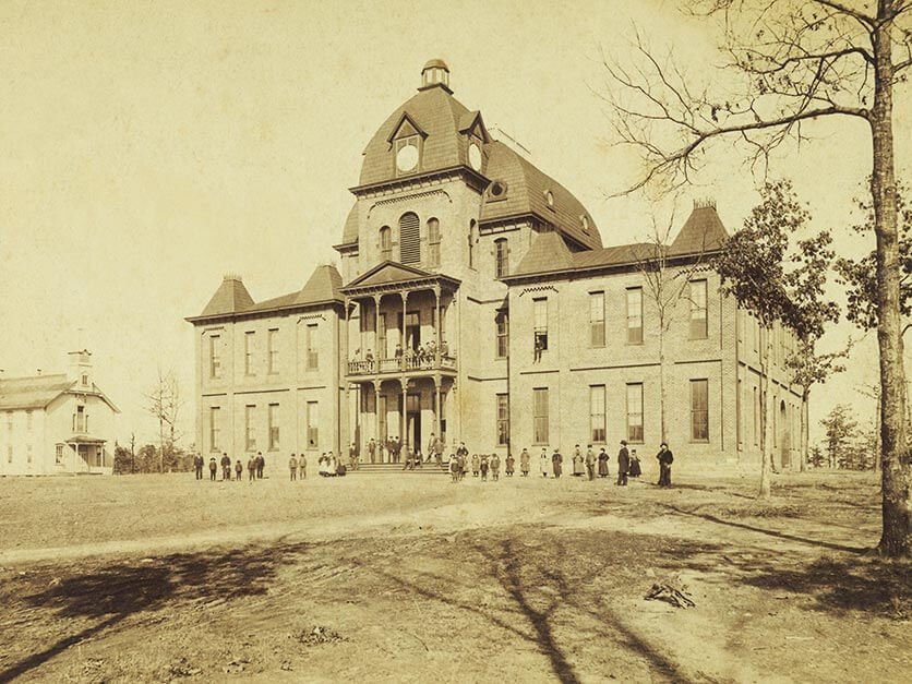
[[[250,545],[230,551],[176,553],[140,561],[97,564],[92,572],[52,579],[21,599],[28,610],[91,624],[0,672],[0,682],[21,676],[58,653],[139,613],[179,603],[227,602],[266,593],[278,567],[309,549],[303,543]],[[47,577],[44,577],[47,579]]]

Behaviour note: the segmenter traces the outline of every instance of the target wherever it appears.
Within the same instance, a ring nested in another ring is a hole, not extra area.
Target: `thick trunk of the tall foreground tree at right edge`
[[[878,16],[887,19],[893,0],[878,2]],[[883,533],[878,551],[888,556],[910,552],[910,467],[905,441],[905,371],[899,307],[899,244],[893,160],[891,22],[874,32],[874,105],[869,113],[874,168],[874,231],[877,236],[877,343],[880,349],[880,443]]]

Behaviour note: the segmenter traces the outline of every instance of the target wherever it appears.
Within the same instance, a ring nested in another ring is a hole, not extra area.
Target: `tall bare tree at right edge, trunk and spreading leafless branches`
[[[880,351],[883,533],[878,550],[908,555],[912,544],[905,371],[900,316],[893,92],[912,65],[912,0],[692,0],[687,11],[720,21],[720,49],[739,83],[734,95],[697,88],[672,56],[639,35],[634,64],[604,60],[607,99],[621,144],[638,151],[644,175],[626,192],[681,187],[722,139],[761,170],[805,127],[839,118],[866,124],[876,235]],[[856,131],[859,129],[853,129]]]

